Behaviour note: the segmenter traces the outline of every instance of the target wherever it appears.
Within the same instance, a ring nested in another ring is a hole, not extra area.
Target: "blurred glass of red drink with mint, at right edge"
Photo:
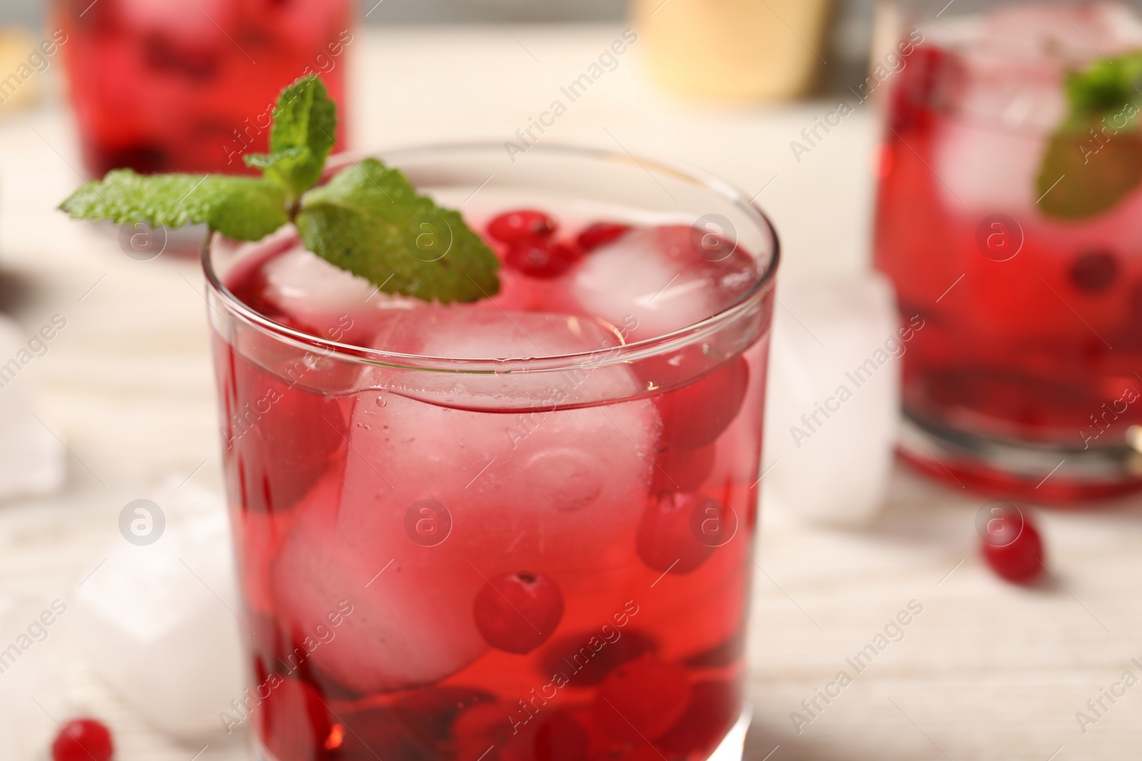
[[[904,456],[1039,501],[1137,489],[1135,7],[896,5],[923,40],[890,82],[876,217],[877,266],[924,325],[903,358]]]

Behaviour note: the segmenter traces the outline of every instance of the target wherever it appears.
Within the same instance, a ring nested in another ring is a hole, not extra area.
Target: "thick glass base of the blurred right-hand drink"
[[[1071,450],[999,442],[904,413],[900,459],[927,476],[990,496],[1079,507],[1142,492],[1142,452],[1129,446]]]

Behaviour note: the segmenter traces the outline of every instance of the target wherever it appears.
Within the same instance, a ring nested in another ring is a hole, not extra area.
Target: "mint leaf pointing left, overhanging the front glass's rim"
[[[206,222],[238,241],[258,241],[289,221],[284,191],[264,179],[224,175],[107,172],[59,207],[72,219],[110,219],[152,227]]]

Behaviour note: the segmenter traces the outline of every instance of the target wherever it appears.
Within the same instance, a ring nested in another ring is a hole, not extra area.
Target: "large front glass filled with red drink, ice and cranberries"
[[[633,226],[612,245],[635,264],[505,267],[496,300],[441,307],[288,230],[210,241],[259,758],[740,756],[772,228],[627,155],[381,157],[481,232],[521,201]],[[410,227],[419,256],[447,249],[439,222]]]

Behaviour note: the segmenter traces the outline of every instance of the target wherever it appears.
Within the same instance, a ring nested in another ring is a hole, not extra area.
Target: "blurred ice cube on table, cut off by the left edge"
[[[0,362],[6,363],[0,364],[0,501],[54,492],[64,481],[63,444],[37,420],[21,388],[18,374],[35,356],[27,341],[15,322],[0,315]]]

